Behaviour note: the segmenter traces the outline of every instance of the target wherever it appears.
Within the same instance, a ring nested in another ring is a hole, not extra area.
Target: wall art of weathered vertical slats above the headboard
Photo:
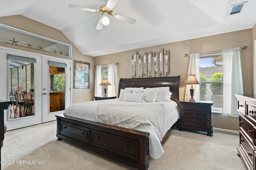
[[[170,51],[161,49],[159,53],[145,52],[143,56],[137,52],[130,58],[131,78],[166,77],[170,74]]]

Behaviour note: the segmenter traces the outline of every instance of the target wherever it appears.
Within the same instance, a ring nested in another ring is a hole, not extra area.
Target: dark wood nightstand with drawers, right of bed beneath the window
[[[179,130],[190,129],[194,131],[212,133],[212,101],[188,102],[180,101],[180,126]]]

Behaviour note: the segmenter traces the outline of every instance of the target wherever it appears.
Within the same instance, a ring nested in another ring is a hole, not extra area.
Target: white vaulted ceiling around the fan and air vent
[[[97,30],[100,13],[75,10],[69,4],[98,10],[105,0],[4,0],[0,17],[22,15],[59,29],[81,51],[99,56],[186,39],[252,28],[256,0],[240,14],[231,5],[246,0],[119,0],[113,13],[136,20],[130,24],[110,16],[110,27]]]

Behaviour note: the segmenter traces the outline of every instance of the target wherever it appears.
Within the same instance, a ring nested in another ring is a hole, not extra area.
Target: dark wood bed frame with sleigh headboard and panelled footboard
[[[170,87],[171,99],[179,106],[180,76],[157,78],[120,78],[120,89],[126,87]],[[107,125],[85,119],[56,115],[58,140],[72,141],[82,147],[113,158],[140,170],[149,167],[148,132]],[[178,121],[166,133],[170,133]]]

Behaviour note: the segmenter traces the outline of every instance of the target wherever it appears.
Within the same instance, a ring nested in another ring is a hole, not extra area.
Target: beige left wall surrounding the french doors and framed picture
[[[34,34],[40,35],[42,37],[54,39],[56,41],[60,41],[62,43],[72,45],[72,57],[66,57],[66,56],[56,55],[56,54],[51,54],[51,53],[49,54],[47,52],[38,51],[35,49],[26,48],[26,47],[19,47],[19,46],[10,45],[7,43],[0,43],[0,46],[4,46],[4,47],[10,47],[10,48],[19,49],[19,50],[30,51],[30,52],[34,52],[34,53],[41,53],[44,55],[50,55],[50,56],[54,56],[54,57],[59,57],[59,58],[64,58],[64,59],[69,59],[69,60],[78,60],[78,61],[90,63],[90,70],[91,70],[91,72],[90,72],[90,78],[91,78],[90,88],[88,88],[88,89],[77,89],[77,88],[73,89],[72,103],[74,104],[74,103],[78,103],[78,102],[93,100],[93,81],[92,81],[92,79],[93,79],[93,58],[88,55],[83,55],[60,30],[55,29],[53,27],[49,27],[48,25],[44,25],[40,22],[31,20],[31,19],[26,18],[21,15],[1,17],[0,23],[2,23],[4,25],[8,25],[10,27],[21,29],[23,31],[34,33]],[[73,66],[72,66],[72,68],[73,68]],[[71,81],[73,82],[73,75],[72,75]]]

